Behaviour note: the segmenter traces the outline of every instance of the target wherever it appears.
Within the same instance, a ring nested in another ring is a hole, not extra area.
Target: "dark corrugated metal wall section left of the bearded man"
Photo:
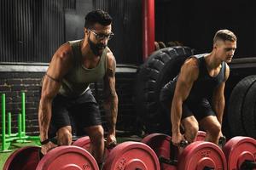
[[[0,61],[49,62],[65,41],[65,10],[72,0],[1,1]]]

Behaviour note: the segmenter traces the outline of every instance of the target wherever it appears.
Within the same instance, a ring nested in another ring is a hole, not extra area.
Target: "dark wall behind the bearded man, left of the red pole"
[[[84,37],[84,16],[93,8],[113,17],[115,37],[109,47],[117,63],[142,62],[140,1],[2,0],[0,4],[0,62],[48,63],[62,43]]]

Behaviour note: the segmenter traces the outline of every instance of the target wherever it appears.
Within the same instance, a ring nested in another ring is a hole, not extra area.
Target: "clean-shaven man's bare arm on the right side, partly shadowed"
[[[225,82],[229,76],[230,76],[230,67],[226,65],[225,80],[218,86],[218,88],[214,90],[212,94],[212,107],[213,107],[213,110],[216,112],[216,116],[220,124],[222,124],[224,106],[225,106],[224,87],[225,87]]]

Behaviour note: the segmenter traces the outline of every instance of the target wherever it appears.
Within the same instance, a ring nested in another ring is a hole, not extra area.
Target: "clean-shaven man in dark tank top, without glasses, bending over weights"
[[[160,103],[172,123],[173,144],[183,139],[193,142],[199,127],[207,132],[207,141],[218,144],[223,135],[224,86],[230,75],[226,63],[230,63],[235,50],[236,35],[217,31],[212,52],[191,56],[177,77],[161,89]]]

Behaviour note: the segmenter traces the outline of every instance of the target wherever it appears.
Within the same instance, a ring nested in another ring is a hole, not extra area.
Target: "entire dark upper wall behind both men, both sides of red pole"
[[[156,41],[179,41],[198,53],[211,50],[218,29],[238,37],[236,57],[256,54],[253,0],[155,0]],[[93,8],[113,16],[109,42],[119,64],[141,64],[142,1],[2,0],[0,62],[48,63],[61,43],[83,37],[84,15]]]

